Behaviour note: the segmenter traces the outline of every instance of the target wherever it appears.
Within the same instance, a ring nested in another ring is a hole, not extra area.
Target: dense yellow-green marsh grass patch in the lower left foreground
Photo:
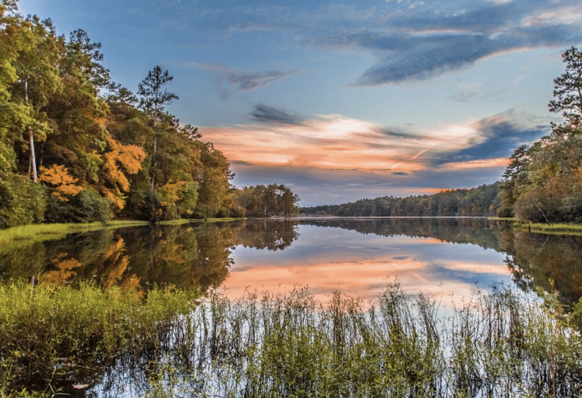
[[[196,293],[154,287],[0,286],[0,396],[17,386],[44,389],[72,369],[91,369],[159,344]]]

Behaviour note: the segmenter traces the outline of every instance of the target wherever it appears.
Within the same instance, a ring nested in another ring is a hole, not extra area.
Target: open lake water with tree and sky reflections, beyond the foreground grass
[[[131,227],[16,241],[0,248],[0,278],[101,286],[154,284],[286,292],[308,286],[363,299],[387,283],[462,298],[495,283],[582,296],[582,238],[513,230],[485,218],[307,218]],[[449,299],[447,299],[449,300]]]

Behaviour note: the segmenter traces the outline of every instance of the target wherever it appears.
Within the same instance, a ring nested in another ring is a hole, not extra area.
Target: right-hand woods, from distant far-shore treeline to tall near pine
[[[582,223],[582,52],[562,55],[565,72],[554,80],[549,110],[564,123],[510,157],[502,180],[434,195],[378,197],[302,208],[338,216],[502,216],[532,222]]]

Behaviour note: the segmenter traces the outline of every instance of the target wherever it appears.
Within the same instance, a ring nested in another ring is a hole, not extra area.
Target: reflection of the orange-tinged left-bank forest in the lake
[[[290,221],[217,222],[76,233],[59,241],[14,242],[0,248],[0,278],[62,285],[218,287],[232,264],[230,248],[282,250],[297,239]]]

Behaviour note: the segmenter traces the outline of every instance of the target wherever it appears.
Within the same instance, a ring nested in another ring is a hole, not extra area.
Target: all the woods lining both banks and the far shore
[[[167,70],[155,66],[133,94],[111,79],[101,44],[85,31],[67,39],[51,20],[0,1],[0,228],[296,213],[289,187],[230,184],[222,152],[166,112],[178,100],[165,88]],[[565,121],[517,148],[500,182],[301,211],[582,222],[582,53],[570,48],[563,61],[549,109]]]

